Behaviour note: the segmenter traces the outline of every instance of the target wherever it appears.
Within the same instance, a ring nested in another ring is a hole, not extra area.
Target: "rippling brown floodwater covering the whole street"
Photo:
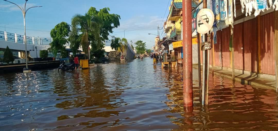
[[[152,59],[0,75],[0,130],[278,130],[274,89],[210,75],[209,106],[182,106],[182,69]]]

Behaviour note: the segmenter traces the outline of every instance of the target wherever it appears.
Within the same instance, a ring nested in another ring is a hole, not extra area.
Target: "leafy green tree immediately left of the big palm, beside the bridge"
[[[69,36],[70,27],[66,22],[61,22],[57,24],[51,31],[50,36],[53,41],[50,43],[50,49],[56,57],[58,52],[64,52],[66,47],[64,46],[68,43],[66,37]]]

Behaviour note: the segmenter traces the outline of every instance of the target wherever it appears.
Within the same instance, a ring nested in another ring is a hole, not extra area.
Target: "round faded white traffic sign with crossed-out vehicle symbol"
[[[201,9],[197,14],[197,32],[206,34],[212,28],[214,14],[210,9]]]

